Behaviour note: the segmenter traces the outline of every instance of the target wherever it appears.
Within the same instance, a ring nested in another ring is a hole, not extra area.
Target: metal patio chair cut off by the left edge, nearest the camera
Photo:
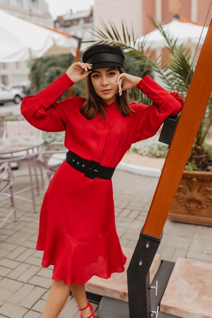
[[[8,190],[10,192],[8,193]],[[10,198],[12,210],[4,215],[3,208],[1,208],[0,213],[0,229],[3,227],[8,218],[14,214],[14,221],[17,221],[14,196],[13,196],[13,176],[9,163],[4,163],[0,165],[0,202]]]

